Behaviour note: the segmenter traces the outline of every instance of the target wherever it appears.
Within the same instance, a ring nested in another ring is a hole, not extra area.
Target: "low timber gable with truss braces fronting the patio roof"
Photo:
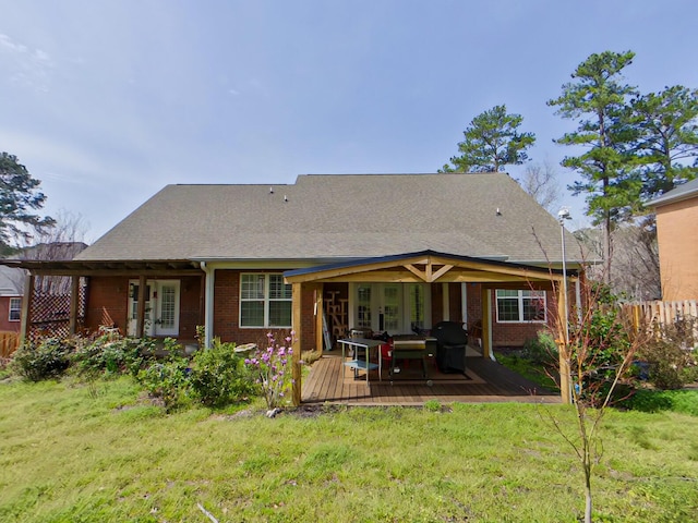
[[[341,264],[284,272],[288,283],[366,281],[366,282],[542,282],[562,281],[561,270],[471,258],[433,251],[364,258]],[[576,271],[567,271],[576,277]]]

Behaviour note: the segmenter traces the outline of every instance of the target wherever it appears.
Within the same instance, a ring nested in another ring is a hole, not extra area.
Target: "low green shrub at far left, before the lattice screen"
[[[58,378],[70,366],[75,340],[45,338],[40,342],[27,342],[12,357],[12,370],[29,381]]]

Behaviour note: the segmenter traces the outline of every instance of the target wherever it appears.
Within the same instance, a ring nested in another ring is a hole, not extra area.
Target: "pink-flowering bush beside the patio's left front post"
[[[257,384],[262,386],[264,399],[269,409],[280,406],[284,394],[293,384],[291,374],[288,372],[293,354],[291,349],[293,335],[294,332],[291,331],[291,335],[284,339],[285,344],[279,344],[272,332],[267,333],[267,348],[257,349],[252,357],[244,361],[257,375]]]

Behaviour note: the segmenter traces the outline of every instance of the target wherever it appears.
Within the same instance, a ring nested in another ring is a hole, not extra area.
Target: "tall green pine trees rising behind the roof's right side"
[[[646,204],[698,173],[698,90],[675,85],[640,93],[623,77],[634,58],[633,51],[591,54],[562,85],[561,95],[547,100],[555,114],[577,123],[554,142],[575,148],[562,166],[578,175],[568,191],[585,196],[587,215],[602,226],[606,282],[614,229],[645,217],[643,229],[655,233]],[[519,131],[521,122],[505,105],[477,115],[464,131],[458,155],[440,171],[500,171],[527,162],[535,135]],[[532,186],[527,191],[532,192],[541,172],[528,174]]]

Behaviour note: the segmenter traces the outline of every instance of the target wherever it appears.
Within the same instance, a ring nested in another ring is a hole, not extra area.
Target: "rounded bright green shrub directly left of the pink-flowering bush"
[[[210,349],[194,355],[191,386],[204,405],[222,406],[258,391],[250,368],[234,353],[234,343],[214,339]]]

